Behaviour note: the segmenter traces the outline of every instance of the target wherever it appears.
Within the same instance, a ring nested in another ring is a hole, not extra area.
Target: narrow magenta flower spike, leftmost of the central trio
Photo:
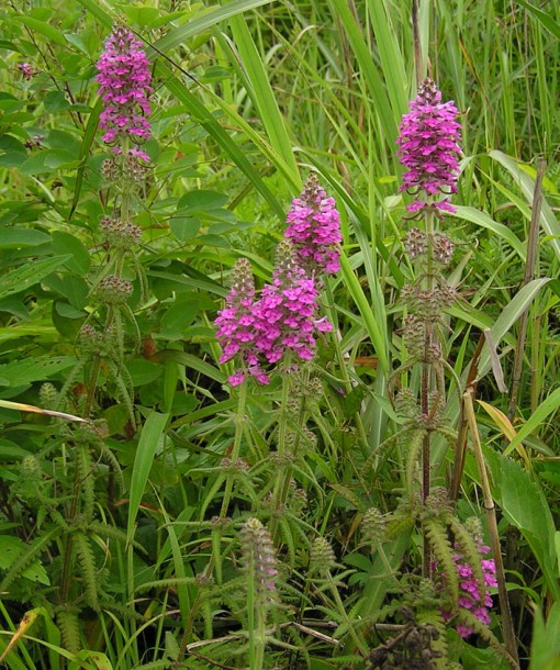
[[[269,381],[259,365],[255,321],[255,284],[250,263],[246,258],[239,258],[233,268],[233,282],[225,299],[225,309],[217,313],[214,322],[219,326],[216,337],[223,347],[220,362],[239,356],[244,364],[243,369],[229,377],[229,383],[234,387],[245,381],[247,370],[260,383]]]

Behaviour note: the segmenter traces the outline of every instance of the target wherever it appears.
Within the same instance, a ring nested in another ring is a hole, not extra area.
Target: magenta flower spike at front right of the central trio
[[[296,264],[289,241],[280,243],[278,258],[272,283],[264,287],[255,304],[255,344],[268,362],[277,362],[287,351],[311,360],[315,333],[331,331],[332,325],[324,317],[317,319],[317,289]]]

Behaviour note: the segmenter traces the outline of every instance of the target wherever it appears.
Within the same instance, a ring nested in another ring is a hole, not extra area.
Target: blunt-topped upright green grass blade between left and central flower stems
[[[168,414],[159,414],[152,412],[144,424],[142,435],[136,448],[134,466],[131,479],[131,495],[128,503],[128,521],[126,526],[126,535],[128,541],[134,537],[134,528],[136,524],[136,515],[144,495],[144,490],[149,477],[149,470],[154,462],[154,456],[161,439],[164,439],[164,429],[168,420]]]

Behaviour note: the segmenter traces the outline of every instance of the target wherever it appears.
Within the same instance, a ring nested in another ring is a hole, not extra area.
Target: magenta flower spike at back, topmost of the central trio
[[[312,172],[288,212],[284,236],[296,249],[298,264],[310,276],[334,275],[340,269],[337,245],[341,242],[340,214],[334,198],[327,198]]]

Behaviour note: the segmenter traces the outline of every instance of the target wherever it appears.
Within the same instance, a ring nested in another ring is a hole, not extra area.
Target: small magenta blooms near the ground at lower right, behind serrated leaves
[[[479,554],[481,555],[481,567],[482,574],[484,577],[484,585],[497,587],[497,581],[495,577],[496,566],[494,563],[494,560],[482,558],[489,551],[490,547],[486,547],[482,544],[479,545]],[[488,589],[484,589],[484,593],[480,592],[479,582],[474,576],[472,566],[464,560],[459,549],[453,555],[453,560],[456,562],[457,571],[460,578],[459,607],[462,607],[463,610],[469,610],[480,622],[488,626],[490,624],[489,608],[492,607],[492,598],[490,596],[490,591]],[[450,614],[444,612],[444,618],[450,618]],[[464,638],[471,635],[472,628],[462,624],[458,624],[457,632],[461,637]]]

